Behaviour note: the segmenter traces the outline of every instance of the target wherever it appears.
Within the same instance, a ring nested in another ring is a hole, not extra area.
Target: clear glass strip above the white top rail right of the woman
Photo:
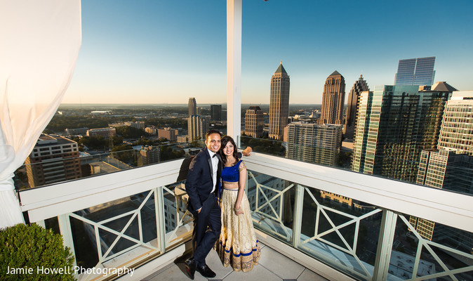
[[[240,148],[251,146],[254,152],[266,155],[473,195],[473,156],[467,152],[397,144],[385,145],[383,154],[375,146],[357,150],[354,143],[342,142],[340,146],[331,139],[304,136],[307,139],[314,144],[241,136]]]

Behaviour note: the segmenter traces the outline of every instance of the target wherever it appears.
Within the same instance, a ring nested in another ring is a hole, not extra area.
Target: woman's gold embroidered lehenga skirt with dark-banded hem
[[[241,200],[240,209],[244,214],[237,216],[234,211],[238,190],[222,188],[222,231],[215,243],[215,250],[223,266],[232,265],[234,271],[250,271],[260,259],[260,246],[256,240],[250,204],[246,194]]]

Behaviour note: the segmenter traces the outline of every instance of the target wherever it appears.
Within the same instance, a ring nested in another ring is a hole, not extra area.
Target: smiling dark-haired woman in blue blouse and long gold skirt
[[[216,249],[223,266],[231,264],[234,271],[247,272],[258,264],[261,251],[245,194],[246,166],[238,159],[237,145],[229,136],[222,138],[219,154],[223,162],[222,230]]]

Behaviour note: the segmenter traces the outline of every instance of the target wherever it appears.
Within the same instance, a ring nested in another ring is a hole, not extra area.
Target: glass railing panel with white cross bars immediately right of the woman
[[[247,197],[256,228],[290,243],[295,185],[281,178],[248,171]]]

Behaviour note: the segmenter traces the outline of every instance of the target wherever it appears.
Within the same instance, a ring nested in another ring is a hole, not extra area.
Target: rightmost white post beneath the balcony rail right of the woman
[[[387,270],[391,260],[392,243],[396,232],[397,214],[384,209],[382,211],[380,237],[373,270],[373,280],[387,280]]]

